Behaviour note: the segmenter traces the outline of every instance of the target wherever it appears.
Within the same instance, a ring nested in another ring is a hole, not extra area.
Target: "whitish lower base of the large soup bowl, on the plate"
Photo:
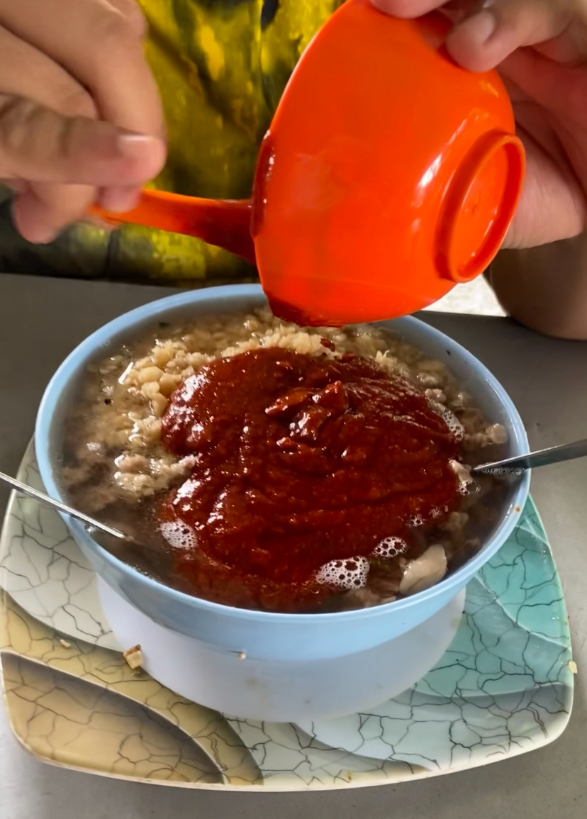
[[[364,711],[414,685],[449,648],[465,593],[426,622],[359,654],[282,662],[219,653],[158,625],[98,578],[102,607],[124,649],[140,645],[142,667],[186,699],[244,719],[307,722]]]

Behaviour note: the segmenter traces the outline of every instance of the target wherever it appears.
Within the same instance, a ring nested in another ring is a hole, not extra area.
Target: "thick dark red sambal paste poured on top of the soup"
[[[161,510],[194,535],[180,571],[209,588],[211,571],[224,577],[227,604],[252,584],[251,604],[289,610],[324,563],[368,556],[458,499],[453,432],[412,382],[354,355],[211,361],[174,392],[162,437],[196,455]]]

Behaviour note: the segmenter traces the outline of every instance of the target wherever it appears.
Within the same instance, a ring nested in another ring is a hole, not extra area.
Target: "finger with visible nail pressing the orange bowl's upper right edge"
[[[494,0],[456,26],[446,45],[463,68],[486,71],[517,48],[557,38],[571,21],[570,2]]]

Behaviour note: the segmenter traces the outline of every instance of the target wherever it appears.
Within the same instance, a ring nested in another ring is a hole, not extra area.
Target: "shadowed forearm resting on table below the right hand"
[[[587,340],[587,233],[501,251],[487,278],[503,310],[540,333]]]

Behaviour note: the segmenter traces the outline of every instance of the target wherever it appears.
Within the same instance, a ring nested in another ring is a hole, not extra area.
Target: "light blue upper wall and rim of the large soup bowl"
[[[93,333],[61,364],[38,410],[35,448],[47,492],[66,500],[56,475],[64,409],[90,361],[108,355],[120,343],[156,324],[186,316],[250,310],[266,303],[257,285],[213,287],[154,301],[120,316]],[[447,364],[463,389],[492,423],[508,428],[508,455],[528,451],[522,419],[503,387],[480,361],[438,330],[413,318],[382,322],[417,345],[426,355]],[[324,614],[280,614],[210,603],[146,577],[115,558],[88,534],[81,523],[64,515],[65,523],[96,572],[124,600],[162,626],[195,637],[220,652],[245,651],[250,658],[310,660],[354,654],[418,626],[440,611],[489,560],[511,534],[528,495],[526,473],[508,496],[503,517],[481,550],[457,572],[431,589],[371,609]]]

